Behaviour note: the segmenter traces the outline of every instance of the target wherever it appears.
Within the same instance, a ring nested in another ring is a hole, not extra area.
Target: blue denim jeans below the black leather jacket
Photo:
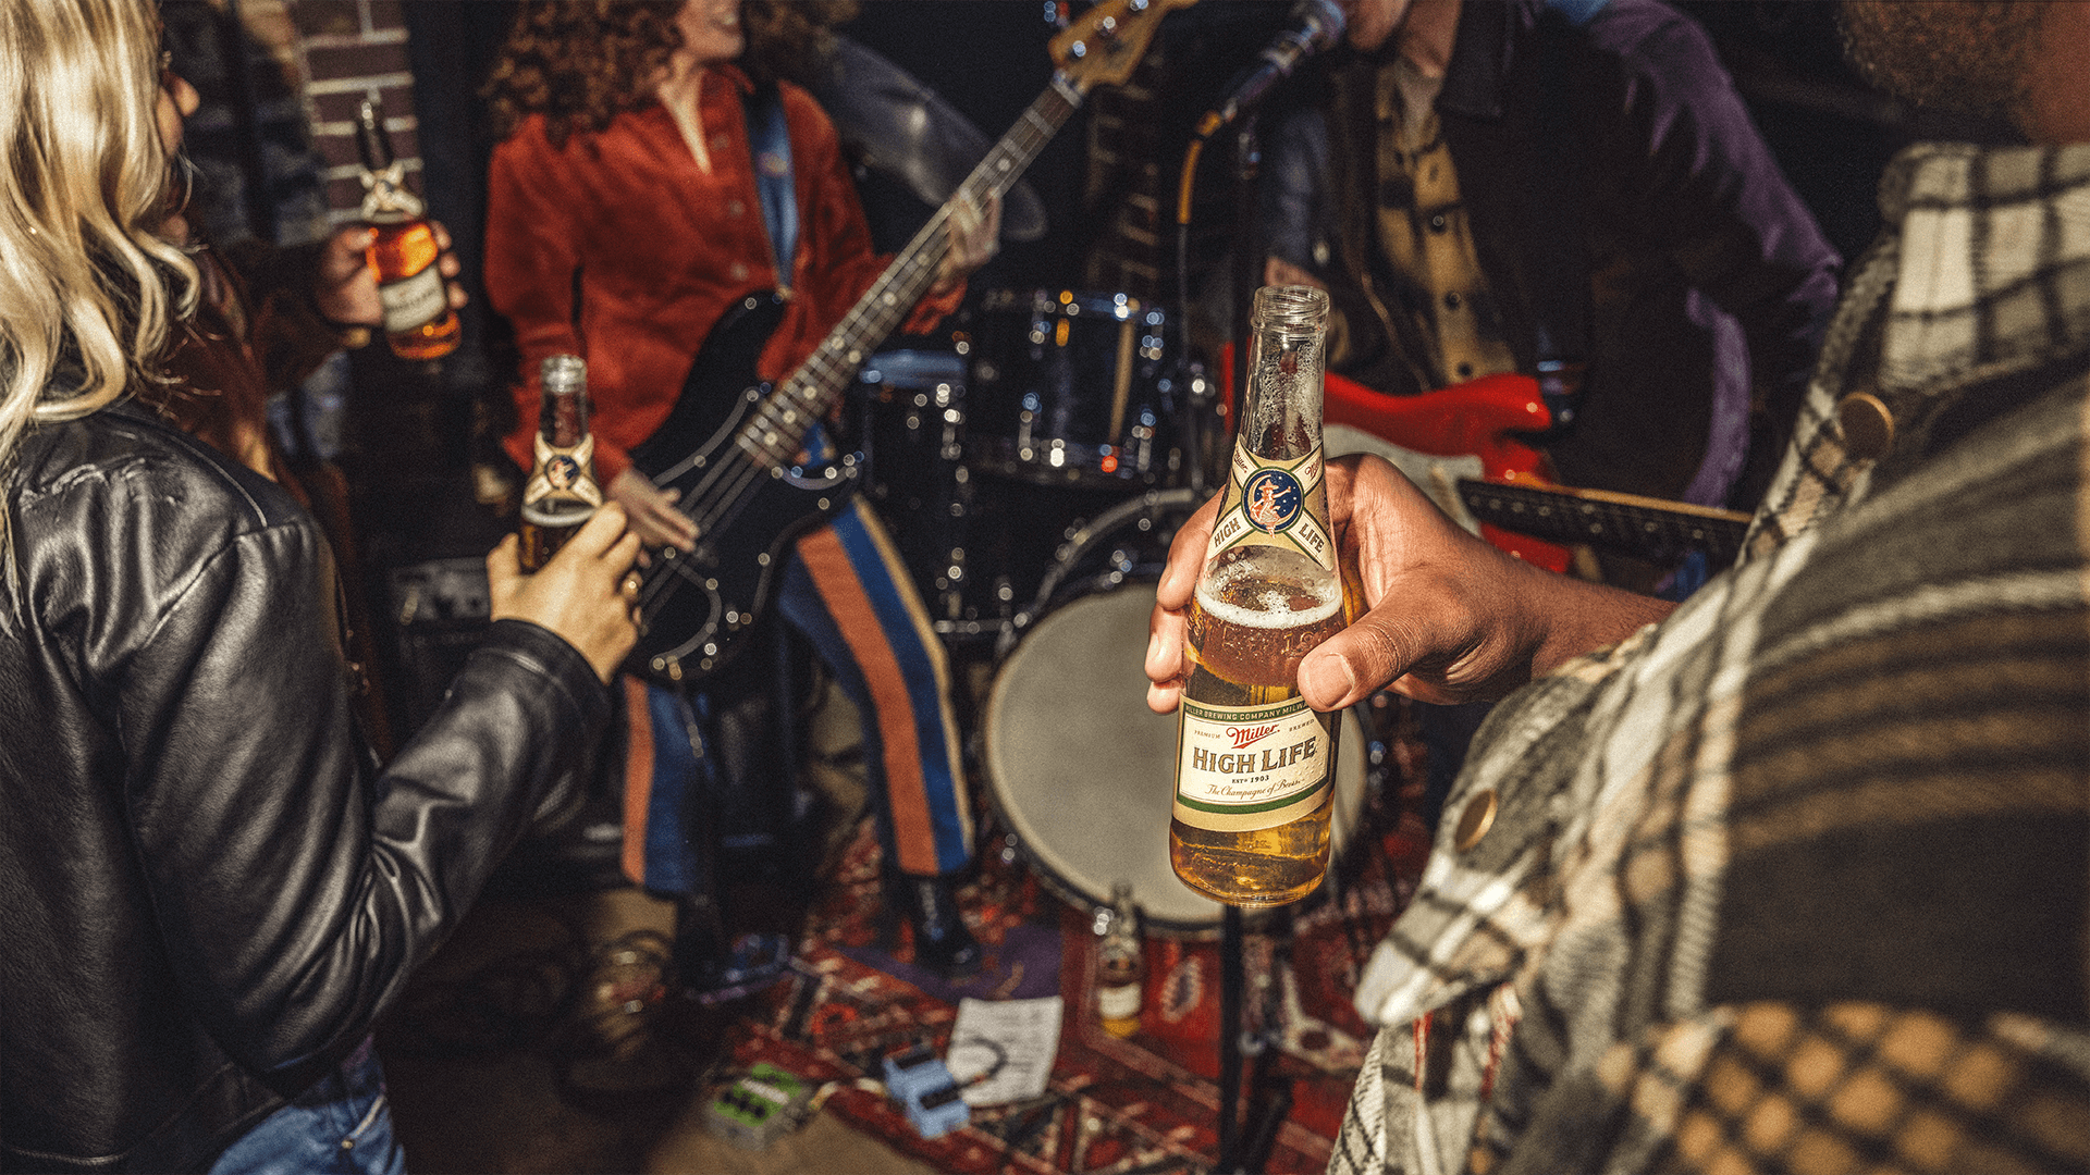
[[[385,1068],[370,1041],[240,1135],[211,1165],[211,1175],[405,1175]]]

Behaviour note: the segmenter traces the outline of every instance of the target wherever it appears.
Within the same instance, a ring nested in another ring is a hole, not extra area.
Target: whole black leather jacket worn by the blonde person
[[[608,692],[495,623],[378,771],[280,487],[132,404],[0,485],[0,1167],[203,1171],[370,1033]]]

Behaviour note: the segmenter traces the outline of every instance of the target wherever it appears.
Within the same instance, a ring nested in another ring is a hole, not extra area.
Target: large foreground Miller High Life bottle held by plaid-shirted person
[[[1298,901],[1329,857],[1338,715],[1298,692],[1344,606],[1321,464],[1327,295],[1264,286],[1248,395],[1204,573],[1189,604],[1168,859],[1229,905]]]

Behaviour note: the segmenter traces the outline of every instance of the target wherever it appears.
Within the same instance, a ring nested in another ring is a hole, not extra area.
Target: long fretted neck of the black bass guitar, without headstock
[[[1081,107],[1083,92],[1055,73],[1051,86],[1030,102],[986,159],[966,176],[957,194],[938,207],[913,240],[886,266],[886,272],[863,291],[857,305],[821,339],[798,370],[784,378],[757,408],[740,431],[740,447],[763,464],[784,464],[794,458],[805,435],[842,399],[849,381],[857,376],[869,349],[882,343],[922,301],[945,253],[951,249],[951,207],[970,199],[984,207],[999,199],[1037,159],[1051,136]]]

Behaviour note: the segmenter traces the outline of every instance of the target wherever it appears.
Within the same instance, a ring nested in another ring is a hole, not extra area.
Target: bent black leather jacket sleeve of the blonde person
[[[334,602],[326,544],[291,514],[203,560],[113,673],[182,1001],[282,1093],[364,1039],[608,713],[579,652],[502,621],[378,774]]]

